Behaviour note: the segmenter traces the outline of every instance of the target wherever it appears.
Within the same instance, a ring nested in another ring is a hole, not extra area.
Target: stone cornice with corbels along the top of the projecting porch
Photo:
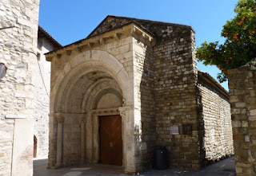
[[[141,29],[135,23],[130,23],[129,25],[124,25],[118,29],[113,29],[107,31],[106,33],[66,45],[62,49],[46,53],[46,61],[52,61],[54,57],[61,58],[62,55],[70,56],[74,50],[81,53],[83,49],[93,49],[95,46],[104,45],[110,40],[120,40],[122,35],[131,35],[146,45],[155,45],[154,37],[150,33],[146,32],[144,29]]]

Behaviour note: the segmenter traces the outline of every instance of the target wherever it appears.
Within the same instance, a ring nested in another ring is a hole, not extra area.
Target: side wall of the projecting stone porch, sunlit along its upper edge
[[[154,166],[155,102],[154,102],[154,57],[152,47],[134,38],[134,81],[135,107],[141,112],[138,124],[140,131],[135,136],[135,155],[138,157],[138,170],[147,170]],[[138,117],[134,117],[135,120]]]

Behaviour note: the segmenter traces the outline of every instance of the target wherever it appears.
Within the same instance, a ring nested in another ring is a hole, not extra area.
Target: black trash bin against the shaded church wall
[[[155,167],[158,170],[165,170],[168,167],[166,147],[157,146],[154,151]]]

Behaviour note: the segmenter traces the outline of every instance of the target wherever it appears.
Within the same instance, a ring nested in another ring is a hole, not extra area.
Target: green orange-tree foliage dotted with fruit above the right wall
[[[228,69],[246,65],[256,58],[256,0],[239,0],[234,12],[234,18],[222,29],[224,44],[205,41],[196,51],[198,61],[216,65],[222,71],[218,73],[221,83],[226,81]]]

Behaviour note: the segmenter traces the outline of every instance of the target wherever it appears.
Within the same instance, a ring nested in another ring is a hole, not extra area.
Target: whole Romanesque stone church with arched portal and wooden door
[[[49,167],[85,162],[137,173],[199,170],[233,154],[228,93],[199,72],[188,25],[107,16],[88,37],[46,53],[51,62]]]

